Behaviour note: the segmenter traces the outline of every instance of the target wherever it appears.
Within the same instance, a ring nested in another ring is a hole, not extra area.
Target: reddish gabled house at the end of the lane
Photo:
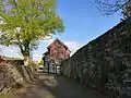
[[[70,58],[70,52],[69,48],[58,38],[53,40],[53,42],[47,47],[47,51],[43,58],[44,66],[48,73],[57,73],[61,62]]]

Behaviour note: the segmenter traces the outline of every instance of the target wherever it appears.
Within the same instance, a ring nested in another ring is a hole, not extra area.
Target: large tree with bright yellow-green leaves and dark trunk
[[[39,40],[62,33],[63,22],[56,12],[56,0],[1,0],[2,45],[17,46],[25,62]]]

